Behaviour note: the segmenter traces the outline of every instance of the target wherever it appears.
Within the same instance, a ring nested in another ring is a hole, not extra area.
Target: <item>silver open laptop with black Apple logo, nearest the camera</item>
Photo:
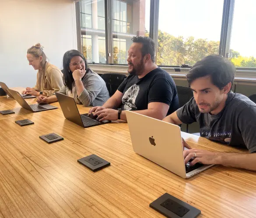
[[[126,111],[133,150],[182,178],[189,178],[212,165],[190,167],[183,157],[180,127],[171,123]]]

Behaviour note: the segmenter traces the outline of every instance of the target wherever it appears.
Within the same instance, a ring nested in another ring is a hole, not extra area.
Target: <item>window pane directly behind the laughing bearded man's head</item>
[[[128,3],[129,2],[129,3]],[[127,51],[133,36],[145,36],[149,30],[150,0],[113,0],[113,63],[127,64]],[[147,10],[146,10],[147,9]]]

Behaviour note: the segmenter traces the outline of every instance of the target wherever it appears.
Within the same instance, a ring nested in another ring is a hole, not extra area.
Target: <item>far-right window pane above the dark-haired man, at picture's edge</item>
[[[255,0],[235,0],[229,58],[236,67],[256,68]]]

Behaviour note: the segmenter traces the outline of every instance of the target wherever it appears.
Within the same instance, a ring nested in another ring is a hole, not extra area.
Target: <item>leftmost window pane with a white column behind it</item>
[[[80,7],[84,57],[89,63],[106,63],[105,1],[83,0]]]

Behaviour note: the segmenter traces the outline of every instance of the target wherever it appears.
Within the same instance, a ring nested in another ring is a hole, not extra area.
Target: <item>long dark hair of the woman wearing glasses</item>
[[[72,76],[72,72],[70,71],[69,65],[70,65],[71,59],[75,56],[80,56],[84,60],[86,72],[88,72],[88,70],[91,70],[90,68],[88,68],[88,63],[87,63],[86,59],[84,58],[84,55],[80,51],[70,50],[64,54],[64,56],[63,56],[63,83],[64,83],[64,85],[67,86],[67,88],[71,92],[72,92],[72,88],[73,88],[74,78]]]

